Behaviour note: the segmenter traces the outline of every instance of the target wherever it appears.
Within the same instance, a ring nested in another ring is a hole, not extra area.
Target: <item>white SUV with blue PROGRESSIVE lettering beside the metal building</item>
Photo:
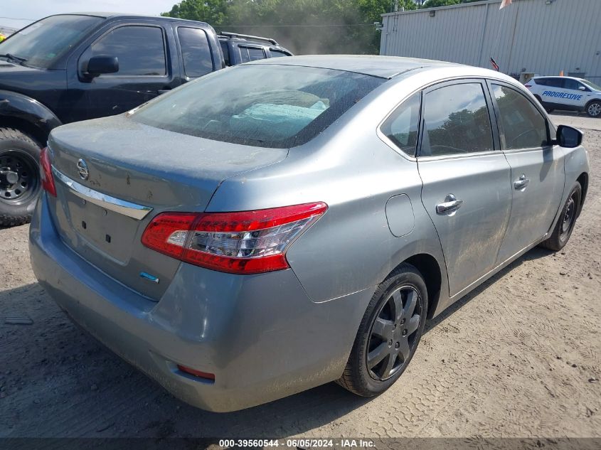
[[[547,112],[568,109],[601,117],[601,86],[593,82],[575,77],[533,77],[526,87]]]

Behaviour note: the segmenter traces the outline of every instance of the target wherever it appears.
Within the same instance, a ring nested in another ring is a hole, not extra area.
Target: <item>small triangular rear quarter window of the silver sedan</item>
[[[420,125],[420,92],[412,95],[398,107],[383,123],[381,131],[403,153],[415,156],[417,148],[417,130]]]

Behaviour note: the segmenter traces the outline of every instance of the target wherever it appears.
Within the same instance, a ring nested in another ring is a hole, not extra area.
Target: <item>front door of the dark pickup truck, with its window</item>
[[[97,37],[81,53],[77,77],[70,80],[71,90],[85,92],[78,120],[127,112],[181,84],[179,65],[167,58],[166,43],[166,28],[151,22],[114,23]],[[93,78],[85,75],[87,61],[97,55],[117,57],[119,71]],[[171,55],[177,58],[175,52]]]

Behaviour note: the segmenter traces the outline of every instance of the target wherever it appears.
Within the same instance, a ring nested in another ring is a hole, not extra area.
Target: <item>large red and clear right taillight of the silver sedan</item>
[[[221,272],[287,269],[290,243],[327,209],[317,202],[240,213],[161,213],[144,230],[142,244]]]

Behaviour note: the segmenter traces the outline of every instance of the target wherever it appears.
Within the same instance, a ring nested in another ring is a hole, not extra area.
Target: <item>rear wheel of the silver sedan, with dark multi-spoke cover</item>
[[[413,358],[426,316],[424,279],[412,265],[401,264],[373,294],[338,384],[361,397],[373,397],[387,390]],[[379,359],[383,353],[387,355]],[[378,355],[372,358],[371,364],[368,363],[370,355]],[[379,363],[373,364],[376,360]]]

